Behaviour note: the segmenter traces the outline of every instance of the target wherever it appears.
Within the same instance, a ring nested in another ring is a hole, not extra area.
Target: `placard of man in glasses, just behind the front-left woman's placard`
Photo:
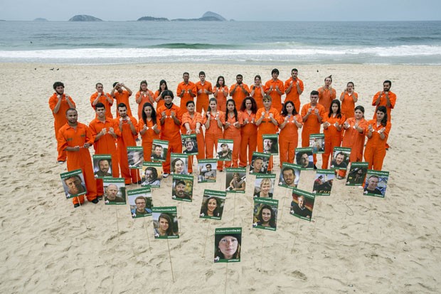
[[[127,191],[132,219],[152,215],[152,189],[143,187]]]

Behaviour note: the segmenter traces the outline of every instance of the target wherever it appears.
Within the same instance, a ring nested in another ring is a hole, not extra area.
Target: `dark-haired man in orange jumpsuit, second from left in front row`
[[[112,156],[112,177],[119,177],[118,153],[115,140],[121,136],[118,123],[106,116],[105,105],[97,103],[95,105],[97,117],[89,124],[93,138],[95,154],[110,154]],[[97,179],[97,195],[104,194],[102,179]]]

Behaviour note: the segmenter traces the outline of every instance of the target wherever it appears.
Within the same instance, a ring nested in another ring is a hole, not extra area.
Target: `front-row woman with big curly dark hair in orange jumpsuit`
[[[251,164],[253,152],[257,149],[257,126],[255,125],[257,103],[253,97],[247,97],[242,101],[240,112],[242,112],[243,126],[240,128],[239,167],[246,167],[247,159]]]

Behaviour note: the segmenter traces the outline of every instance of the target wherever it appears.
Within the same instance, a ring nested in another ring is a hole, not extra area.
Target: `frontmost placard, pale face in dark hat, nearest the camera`
[[[214,230],[214,262],[240,262],[242,228],[216,228]]]

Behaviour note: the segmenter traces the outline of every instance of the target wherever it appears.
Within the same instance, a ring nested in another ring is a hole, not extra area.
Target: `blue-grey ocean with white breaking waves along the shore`
[[[1,63],[441,64],[441,21],[0,21]]]

